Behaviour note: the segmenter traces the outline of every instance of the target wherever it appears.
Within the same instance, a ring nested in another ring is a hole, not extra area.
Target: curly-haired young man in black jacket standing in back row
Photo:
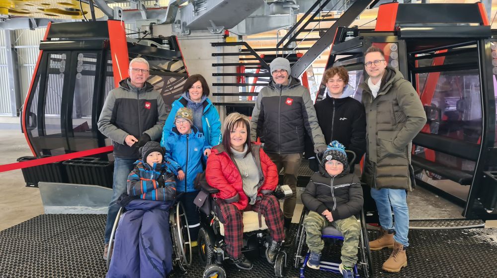
[[[356,158],[350,164],[350,173],[353,173],[355,163],[359,163],[366,151],[366,114],[364,105],[351,97],[354,90],[348,85],[348,80],[348,72],[343,67],[326,70],[323,74],[325,99],[318,101],[314,108],[325,141],[337,140],[355,153]],[[309,137],[306,137],[305,154],[309,158],[309,168],[318,172],[318,162]]]

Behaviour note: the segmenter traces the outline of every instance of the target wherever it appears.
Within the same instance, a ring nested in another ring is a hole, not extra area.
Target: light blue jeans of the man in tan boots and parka
[[[380,225],[385,230],[395,229],[394,240],[404,246],[409,246],[409,208],[407,207],[407,193],[404,189],[374,189],[371,188],[371,197],[376,202]],[[392,223],[392,209],[395,223]]]

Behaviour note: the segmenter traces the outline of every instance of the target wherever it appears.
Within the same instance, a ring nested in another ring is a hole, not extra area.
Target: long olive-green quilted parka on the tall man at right
[[[412,140],[426,123],[416,90],[400,71],[391,67],[385,69],[376,98],[373,98],[367,78],[360,87],[367,122],[362,181],[376,189],[412,191]]]

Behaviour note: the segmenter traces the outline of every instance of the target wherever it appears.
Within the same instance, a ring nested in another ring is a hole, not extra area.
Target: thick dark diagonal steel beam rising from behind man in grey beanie
[[[292,76],[300,76],[318,58],[327,47],[331,45],[335,38],[338,26],[349,26],[374,0],[355,1],[333,25],[323,34],[323,36],[297,61],[292,67]]]

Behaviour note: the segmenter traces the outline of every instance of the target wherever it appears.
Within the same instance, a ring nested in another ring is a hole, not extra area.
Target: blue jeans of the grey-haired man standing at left
[[[112,226],[114,226],[114,220],[116,219],[117,212],[121,208],[116,204],[117,199],[121,194],[128,191],[128,175],[131,173],[133,168],[135,168],[136,159],[126,159],[114,157],[114,177],[112,183],[112,200],[110,200],[109,210],[107,212],[107,223],[105,224],[105,239],[104,243],[107,244],[110,239],[110,233],[112,232]]]

